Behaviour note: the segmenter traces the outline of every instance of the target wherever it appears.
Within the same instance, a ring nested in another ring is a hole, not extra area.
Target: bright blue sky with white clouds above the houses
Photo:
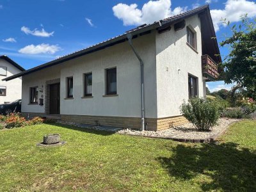
[[[0,55],[28,69],[205,3],[210,4],[218,41],[228,33],[221,17],[236,24],[240,15],[256,16],[255,1],[246,0],[0,0]],[[223,56],[228,53],[220,50]],[[222,81],[207,86],[211,91],[232,87]]]

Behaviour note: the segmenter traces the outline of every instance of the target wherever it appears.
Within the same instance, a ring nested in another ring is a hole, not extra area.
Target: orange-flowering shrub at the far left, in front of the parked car
[[[10,113],[10,115],[6,116],[6,128],[12,129],[15,127],[22,127],[26,125],[26,119],[22,116],[19,116],[17,113]]]

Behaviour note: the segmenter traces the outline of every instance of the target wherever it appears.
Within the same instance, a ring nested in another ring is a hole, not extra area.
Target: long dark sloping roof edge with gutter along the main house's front
[[[188,12],[180,13],[179,15],[173,15],[172,17],[168,17],[166,19],[159,20],[158,22],[154,22],[153,24],[148,24],[146,26],[143,26],[142,28],[137,27],[137,28],[131,29],[131,30],[129,30],[129,32],[125,32],[122,35],[115,36],[113,38],[110,38],[109,40],[106,40],[104,42],[100,42],[99,44],[95,44],[95,45],[92,45],[92,46],[87,47],[85,49],[82,49],[80,51],[76,51],[76,52],[73,52],[71,54],[67,54],[66,56],[63,56],[63,57],[58,58],[56,60],[52,60],[52,61],[49,61],[49,62],[44,63],[42,65],[38,65],[37,67],[33,67],[33,68],[28,69],[28,70],[25,70],[24,72],[20,72],[19,74],[15,74],[13,76],[6,77],[2,81],[10,81],[10,80],[15,79],[17,77],[26,76],[27,74],[31,74],[31,73],[36,72],[38,70],[42,70],[44,68],[51,67],[53,65],[58,65],[58,64],[63,63],[65,61],[72,60],[72,59],[77,58],[79,56],[83,56],[84,54],[88,54],[90,52],[93,52],[93,50],[97,51],[97,49],[100,49],[101,47],[105,47],[105,46],[108,47],[108,45],[110,45],[110,44],[113,44],[113,43],[121,41],[121,40],[125,40],[127,38],[126,35],[128,33],[131,33],[132,36],[138,35],[140,33],[150,31],[152,29],[159,28],[162,25],[172,24],[173,22],[176,22],[180,19],[185,19],[187,17],[191,17],[192,15],[203,12],[206,9],[209,10],[209,5],[208,4],[205,4],[204,6],[200,6],[198,8],[195,8],[194,10],[189,10]],[[102,49],[104,49],[104,48],[102,48]]]

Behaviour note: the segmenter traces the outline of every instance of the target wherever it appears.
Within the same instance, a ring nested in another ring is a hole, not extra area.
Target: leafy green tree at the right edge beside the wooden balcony
[[[250,20],[246,15],[241,17],[242,24],[230,27],[232,36],[221,42],[221,47],[228,45],[230,53],[220,67],[221,77],[225,83],[239,84],[245,97],[256,99],[256,19]],[[230,26],[230,22],[223,20]]]

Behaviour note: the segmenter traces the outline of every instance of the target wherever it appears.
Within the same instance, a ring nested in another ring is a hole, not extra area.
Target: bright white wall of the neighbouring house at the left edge
[[[0,96],[0,104],[21,99],[22,77],[12,79],[11,81],[2,81],[2,79],[18,74],[21,71],[3,59],[0,59],[0,66],[7,67],[7,76],[0,76],[0,86],[6,86],[6,96]]]

